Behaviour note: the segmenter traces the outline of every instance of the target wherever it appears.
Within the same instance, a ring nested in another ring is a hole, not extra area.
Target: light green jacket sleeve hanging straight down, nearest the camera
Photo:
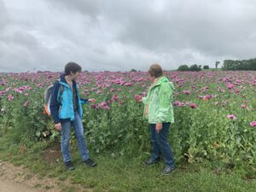
[[[159,90],[159,111],[157,113],[158,123],[165,123],[172,102],[172,88],[169,83],[160,85]]]

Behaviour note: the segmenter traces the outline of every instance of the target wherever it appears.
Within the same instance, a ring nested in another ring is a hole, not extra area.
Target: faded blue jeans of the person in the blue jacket
[[[85,138],[84,138],[84,127],[82,124],[82,120],[79,116],[79,113],[75,111],[75,119],[71,121],[67,121],[65,123],[61,123],[61,152],[64,162],[68,162],[71,160],[71,155],[69,151],[69,140],[71,133],[71,125],[73,124],[73,128],[75,131],[75,136],[77,137],[79,144],[79,152],[82,156],[82,160],[89,159],[89,151],[86,148]]]

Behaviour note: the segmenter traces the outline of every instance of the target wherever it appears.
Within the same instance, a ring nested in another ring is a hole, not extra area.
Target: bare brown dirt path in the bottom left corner
[[[0,192],[61,192],[72,184],[52,177],[39,178],[22,166],[14,166],[0,160]],[[73,186],[76,191],[92,191]]]

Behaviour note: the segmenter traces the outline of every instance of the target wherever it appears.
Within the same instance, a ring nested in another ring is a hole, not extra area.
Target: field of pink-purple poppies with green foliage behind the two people
[[[177,163],[220,160],[227,165],[256,165],[256,72],[165,72],[175,84],[175,123],[170,143]],[[58,140],[53,120],[44,113],[44,90],[60,73],[0,74],[0,130],[26,150],[33,143]],[[96,154],[143,157],[150,152],[143,103],[147,72],[83,72],[82,98],[86,142]]]

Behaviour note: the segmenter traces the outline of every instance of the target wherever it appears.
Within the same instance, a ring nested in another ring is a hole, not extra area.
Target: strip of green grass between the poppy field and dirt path
[[[24,165],[39,177],[55,177],[60,183],[70,179],[72,185],[62,191],[78,191],[78,184],[84,191],[92,189],[96,192],[254,192],[256,189],[256,180],[241,178],[242,170],[229,174],[223,170],[217,174],[214,169],[218,166],[209,162],[177,166],[171,175],[163,176],[163,162],[154,166],[144,166],[142,160],[137,158],[113,159],[108,154],[91,154],[98,166],[89,168],[80,160],[75,145],[72,147],[72,154],[76,169],[73,172],[66,172],[61,161],[47,164],[42,160],[42,151],[48,143],[37,143],[30,150],[20,153],[17,145],[4,144],[7,140],[7,137],[0,137],[1,160],[8,160],[16,166]],[[144,155],[145,158],[147,156],[148,154]]]

